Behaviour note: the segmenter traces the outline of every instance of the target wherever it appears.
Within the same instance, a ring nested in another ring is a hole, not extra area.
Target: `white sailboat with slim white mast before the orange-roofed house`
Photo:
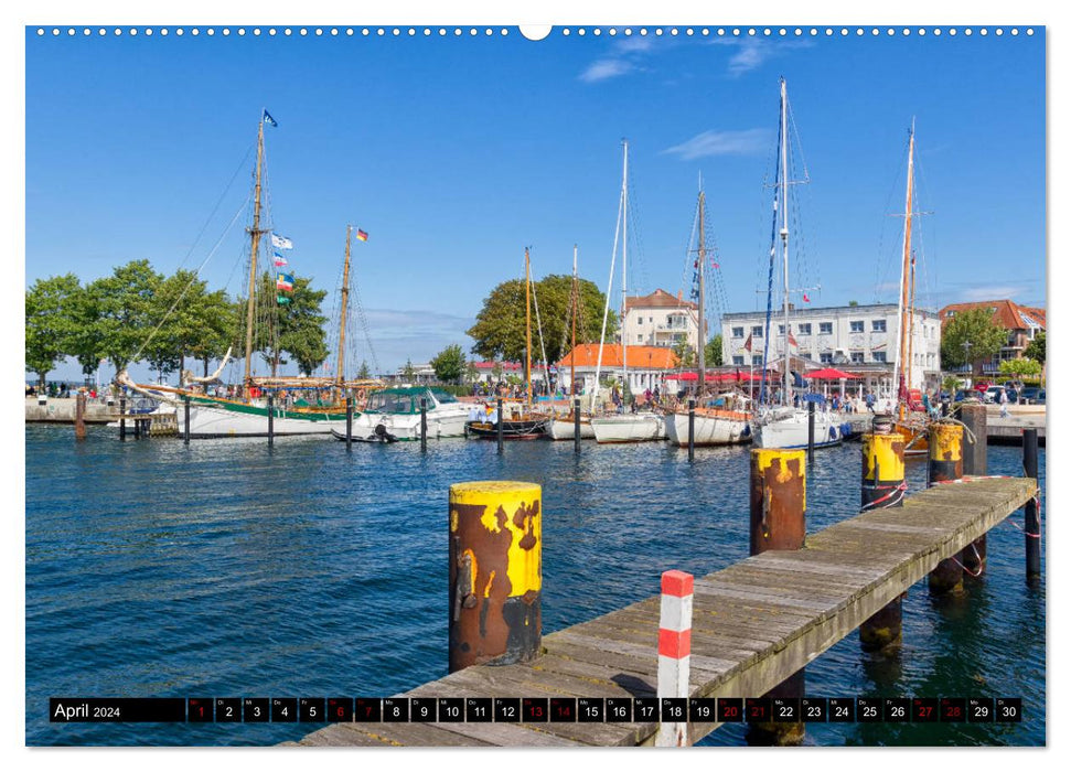
[[[629,142],[622,140],[624,146],[624,162],[621,175],[621,196],[618,204],[618,224],[621,234],[621,371],[622,388],[629,389],[629,341],[624,334],[624,320],[628,310],[629,297]],[[617,238],[619,230],[614,232],[614,257],[617,256]],[[610,282],[607,287],[607,307],[602,315],[602,335],[599,340],[599,361],[596,365],[596,388],[599,390],[599,371],[602,367],[602,350],[607,337],[607,317],[610,308],[610,292],[613,283],[613,258],[610,260]],[[595,395],[592,395],[592,401]],[[596,416],[591,419],[591,429],[595,432],[597,442],[645,442],[651,440],[664,440],[666,437],[665,418],[661,412],[644,410],[641,412],[620,412]]]

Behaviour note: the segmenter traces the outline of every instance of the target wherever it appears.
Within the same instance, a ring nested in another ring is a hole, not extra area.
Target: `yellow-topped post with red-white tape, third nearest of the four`
[[[882,428],[891,425],[881,425]],[[903,506],[903,436],[896,431],[863,436],[863,512]],[[895,650],[903,640],[903,596],[859,625],[865,652]]]

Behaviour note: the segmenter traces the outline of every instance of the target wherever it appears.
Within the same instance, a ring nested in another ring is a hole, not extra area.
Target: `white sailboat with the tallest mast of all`
[[[792,328],[789,324],[789,96],[784,78],[781,78],[781,115],[779,122],[778,172],[774,184],[774,233],[770,245],[770,279],[767,287],[767,323],[764,352],[762,357],[762,392],[765,393],[765,373],[769,362],[765,351],[770,343],[770,320],[773,300],[773,264],[777,256],[777,239],[781,238],[781,259],[784,278],[784,356],[782,358],[781,400],[779,405],[759,408],[752,421],[753,441],[759,448],[806,448],[808,444],[810,416],[806,410],[793,406],[792,372],[790,369],[790,341]],[[778,217],[780,216],[780,228]],[[814,412],[814,447],[823,448],[838,444],[842,440],[840,423],[832,412]]]

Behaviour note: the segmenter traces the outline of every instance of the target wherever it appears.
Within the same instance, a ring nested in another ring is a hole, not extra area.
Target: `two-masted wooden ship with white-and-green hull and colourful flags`
[[[254,322],[256,315],[257,269],[261,236],[270,234],[274,246],[289,248],[289,239],[281,238],[270,229],[261,227],[261,197],[264,178],[264,127],[265,122],[278,126],[274,118],[264,110],[257,130],[257,162],[254,182],[253,224],[249,227],[250,256],[248,294],[246,300],[246,336],[245,336],[245,377],[239,389],[238,398],[226,398],[207,394],[207,385],[217,383],[219,375],[231,356],[231,351],[224,357],[218,369],[210,377],[184,377],[179,388],[165,386],[143,386],[133,383],[126,371],[116,375],[116,382],[136,393],[160,399],[163,406],[174,408],[179,431],[186,431],[186,406],[189,405],[189,436],[194,439],[216,437],[266,437],[268,435],[268,416],[272,419],[272,433],[276,436],[323,435],[331,432],[333,426],[340,422],[344,426],[345,407],[343,395],[353,389],[364,389],[379,385],[378,382],[362,379],[346,382],[344,379],[344,341],[346,323],[346,305],[349,301],[350,274],[350,237],[352,226],[346,226],[345,267],[342,288],[342,333],[339,342],[339,374],[335,378],[313,377],[255,377],[251,372],[254,356]],[[289,278],[289,277],[288,277]],[[283,281],[279,279],[280,283]],[[281,297],[281,296],[280,296]],[[277,302],[281,302],[278,301]],[[201,385],[201,388],[199,388]],[[282,400],[282,394],[309,394],[311,398]],[[280,404],[274,404],[271,396],[279,394]]]

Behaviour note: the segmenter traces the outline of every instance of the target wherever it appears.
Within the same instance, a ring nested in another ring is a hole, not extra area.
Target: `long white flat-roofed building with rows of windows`
[[[792,308],[789,345],[793,356],[863,375],[865,386],[893,387],[899,312],[895,303]],[[934,388],[941,379],[941,320],[933,311],[915,310],[910,343],[909,388]],[[721,315],[721,355],[727,365],[762,366],[765,311]],[[784,314],[770,320],[768,357],[784,355]]]

